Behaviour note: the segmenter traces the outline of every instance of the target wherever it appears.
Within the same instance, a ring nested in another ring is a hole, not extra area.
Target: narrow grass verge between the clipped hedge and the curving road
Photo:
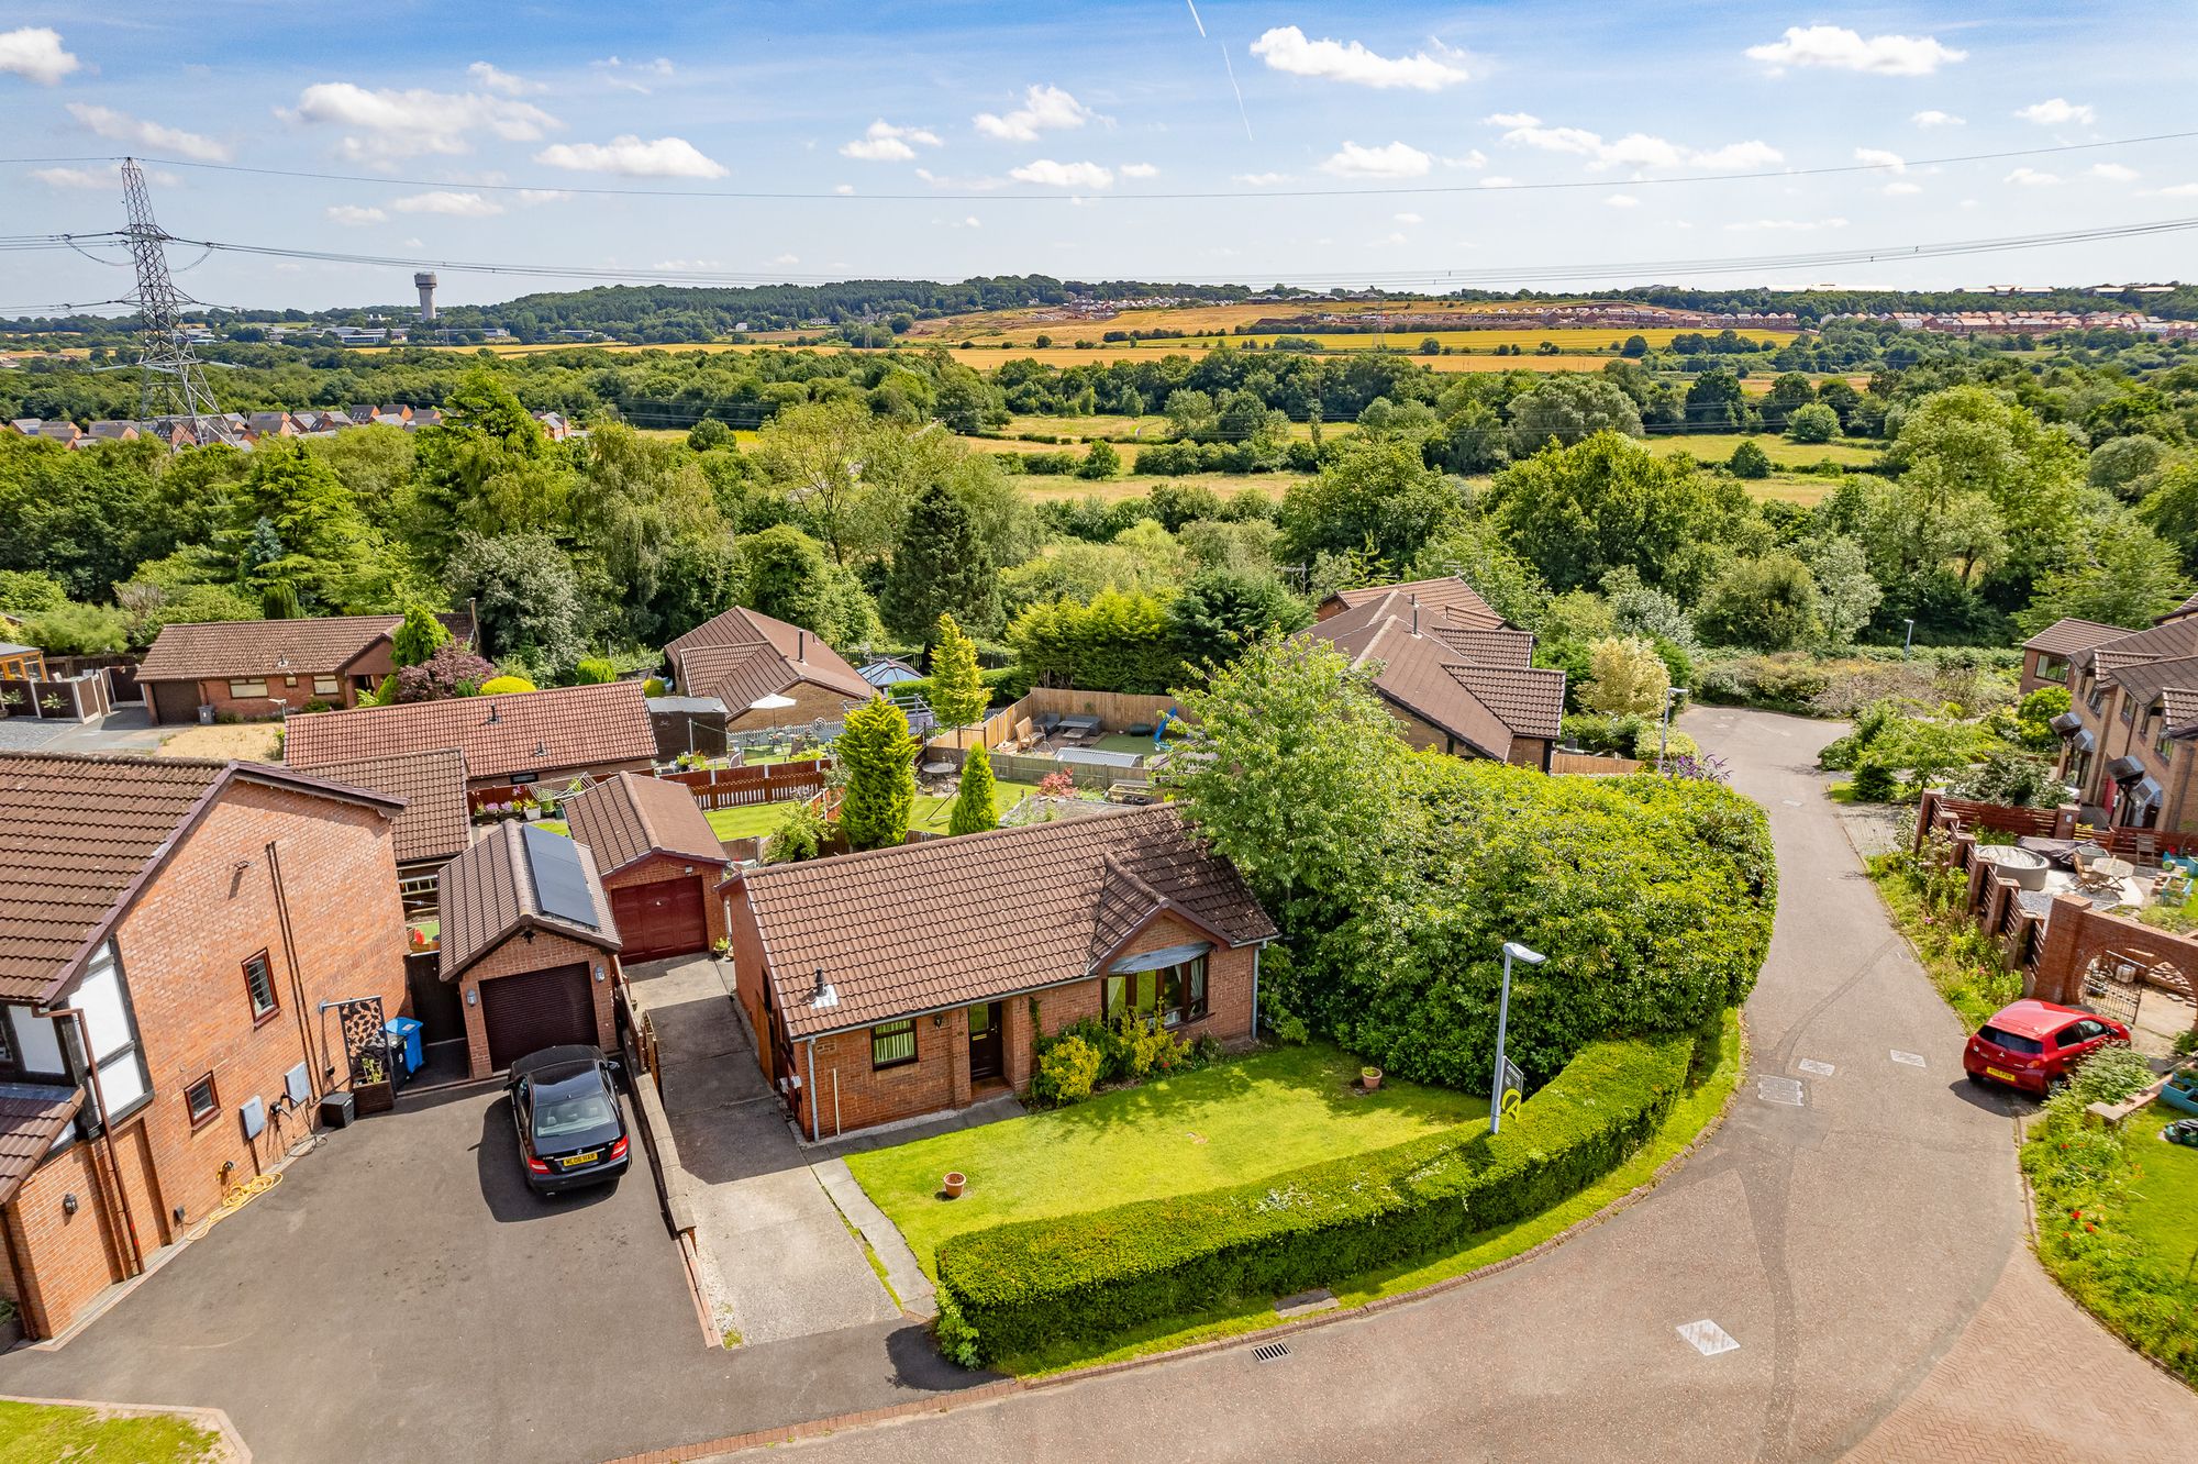
[[[1532,1220],[1481,1231],[1459,1251],[1435,1255],[1411,1266],[1391,1266],[1367,1275],[1345,1277],[1330,1286],[1341,1310],[1356,1310],[1385,1297],[1400,1297],[1424,1290],[1437,1282],[1448,1282],[1486,1266],[1512,1260],[1563,1235],[1574,1224],[1591,1220],[1598,1211],[1627,1198],[1631,1191],[1655,1180],[1657,1169],[1692,1145],[1723,1112],[1747,1071],[1747,1049],[1736,1013],[1725,1013],[1725,1029],[1719,1038],[1717,1064],[1710,1066],[1692,1093],[1673,1108],[1657,1136],[1642,1145],[1633,1158],[1611,1169],[1602,1180],[1589,1185],[1563,1205],[1556,1205]],[[851,1161],[853,1163],[853,1161]],[[1174,1352],[1202,1341],[1242,1337],[1273,1326],[1281,1326],[1273,1299],[1240,1301],[1191,1317],[1174,1317],[1163,1323],[1123,1332],[1114,1345],[1103,1350],[1046,1350],[1015,1356],[1000,1363],[1002,1372],[1035,1378],[1079,1367],[1123,1363],[1154,1352]]]

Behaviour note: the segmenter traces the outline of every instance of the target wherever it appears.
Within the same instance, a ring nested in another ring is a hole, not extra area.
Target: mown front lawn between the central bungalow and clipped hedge
[[[1007,1220],[1194,1194],[1477,1123],[1466,1093],[1383,1084],[1358,1093],[1358,1060],[1328,1044],[1286,1046],[1101,1093],[1073,1108],[1004,1119],[846,1167],[930,1273],[939,1242]],[[947,1169],[969,1176],[939,1198]]]

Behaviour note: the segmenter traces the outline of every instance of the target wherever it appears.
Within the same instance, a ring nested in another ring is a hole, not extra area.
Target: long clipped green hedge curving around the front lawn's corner
[[[941,1347],[996,1363],[1103,1343],[1231,1297],[1279,1297],[1539,1213],[1640,1147],[1692,1038],[1596,1042],[1490,1136],[1437,1134],[1251,1185],[1000,1224],[939,1246]]]

